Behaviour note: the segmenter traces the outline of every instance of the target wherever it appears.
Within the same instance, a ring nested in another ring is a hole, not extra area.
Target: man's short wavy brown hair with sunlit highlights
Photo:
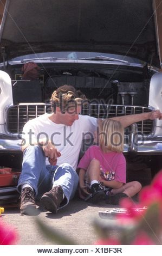
[[[80,90],[76,90],[73,86],[68,86],[67,84],[54,91],[50,102],[53,111],[55,111],[56,107],[60,107],[62,112],[66,112],[70,107],[76,108],[77,106],[88,104],[86,96]]]

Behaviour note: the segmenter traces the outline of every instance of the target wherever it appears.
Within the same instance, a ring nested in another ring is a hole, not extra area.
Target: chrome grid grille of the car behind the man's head
[[[139,106],[103,105],[91,103],[88,108],[83,108],[82,115],[90,115],[96,118],[112,118],[122,115],[140,114],[151,112],[152,109]],[[9,133],[21,133],[28,120],[39,117],[44,113],[50,113],[50,104],[45,103],[20,103],[12,106],[7,111],[7,127]],[[149,135],[153,129],[152,120],[144,120],[137,123],[138,132]]]

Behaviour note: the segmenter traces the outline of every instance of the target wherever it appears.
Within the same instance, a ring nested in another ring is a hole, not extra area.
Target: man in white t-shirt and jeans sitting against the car
[[[53,213],[74,197],[82,138],[93,135],[96,118],[79,115],[85,95],[72,86],[59,87],[51,96],[53,112],[28,121],[22,132],[24,153],[17,190],[21,214],[35,209],[35,199]],[[145,119],[161,119],[160,111],[115,117],[124,127]],[[51,165],[56,164],[57,165]],[[49,163],[51,162],[51,164]]]

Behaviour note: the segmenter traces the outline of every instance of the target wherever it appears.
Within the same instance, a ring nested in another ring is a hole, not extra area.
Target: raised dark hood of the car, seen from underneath
[[[42,51],[87,51],[161,66],[152,0],[7,0],[0,40],[0,62]]]

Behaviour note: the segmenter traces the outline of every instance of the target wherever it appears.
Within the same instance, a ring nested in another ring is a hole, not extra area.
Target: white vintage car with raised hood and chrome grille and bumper
[[[152,4],[153,2],[153,4]],[[0,29],[0,163],[21,171],[22,129],[69,84],[96,118],[162,111],[154,1],[7,0]],[[24,71],[27,69],[29,72]],[[127,166],[161,168],[162,121],[125,130]],[[83,141],[81,155],[91,145]],[[139,179],[139,174],[135,175]]]

